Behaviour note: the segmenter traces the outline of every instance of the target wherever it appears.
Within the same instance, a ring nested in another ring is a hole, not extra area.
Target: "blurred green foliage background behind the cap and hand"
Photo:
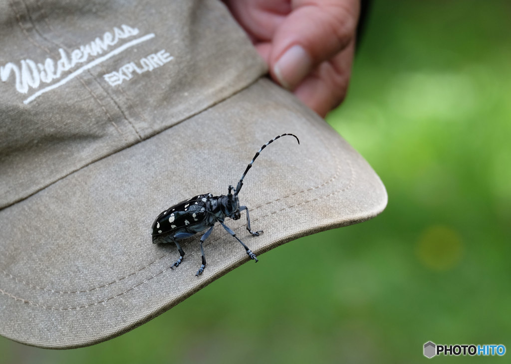
[[[511,2],[375,2],[349,96],[327,120],[386,185],[380,216],[274,249],[99,345],[0,337],[0,361],[408,363],[428,360],[427,341],[511,350],[510,119]]]

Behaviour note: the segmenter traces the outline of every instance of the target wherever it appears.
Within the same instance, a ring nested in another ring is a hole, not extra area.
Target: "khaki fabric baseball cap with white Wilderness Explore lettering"
[[[141,325],[250,261],[219,224],[153,244],[156,217],[226,195],[259,260],[379,214],[385,188],[324,120],[266,79],[217,1],[0,4],[0,334],[73,348]],[[193,224],[192,224],[193,225]],[[196,225],[195,225],[196,226]],[[253,264],[253,263],[250,263]],[[173,268],[173,269],[172,269]]]

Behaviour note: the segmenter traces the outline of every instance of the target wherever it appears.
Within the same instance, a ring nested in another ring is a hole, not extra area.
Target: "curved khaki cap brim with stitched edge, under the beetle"
[[[379,214],[385,188],[324,120],[266,79],[111,154],[0,211],[0,325],[12,340],[45,348],[87,346],[164,313],[248,262],[221,226],[204,243],[152,244],[151,225],[171,205],[227,194],[254,153],[272,143],[244,179],[250,212],[226,224],[258,256],[311,233]],[[56,161],[55,163],[58,163]],[[260,259],[264,259],[260,257]]]

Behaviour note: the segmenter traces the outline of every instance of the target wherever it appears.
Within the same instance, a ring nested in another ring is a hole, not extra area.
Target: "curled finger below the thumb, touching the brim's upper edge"
[[[354,51],[355,40],[331,60],[319,64],[294,94],[321,117],[326,116],[346,96]]]

